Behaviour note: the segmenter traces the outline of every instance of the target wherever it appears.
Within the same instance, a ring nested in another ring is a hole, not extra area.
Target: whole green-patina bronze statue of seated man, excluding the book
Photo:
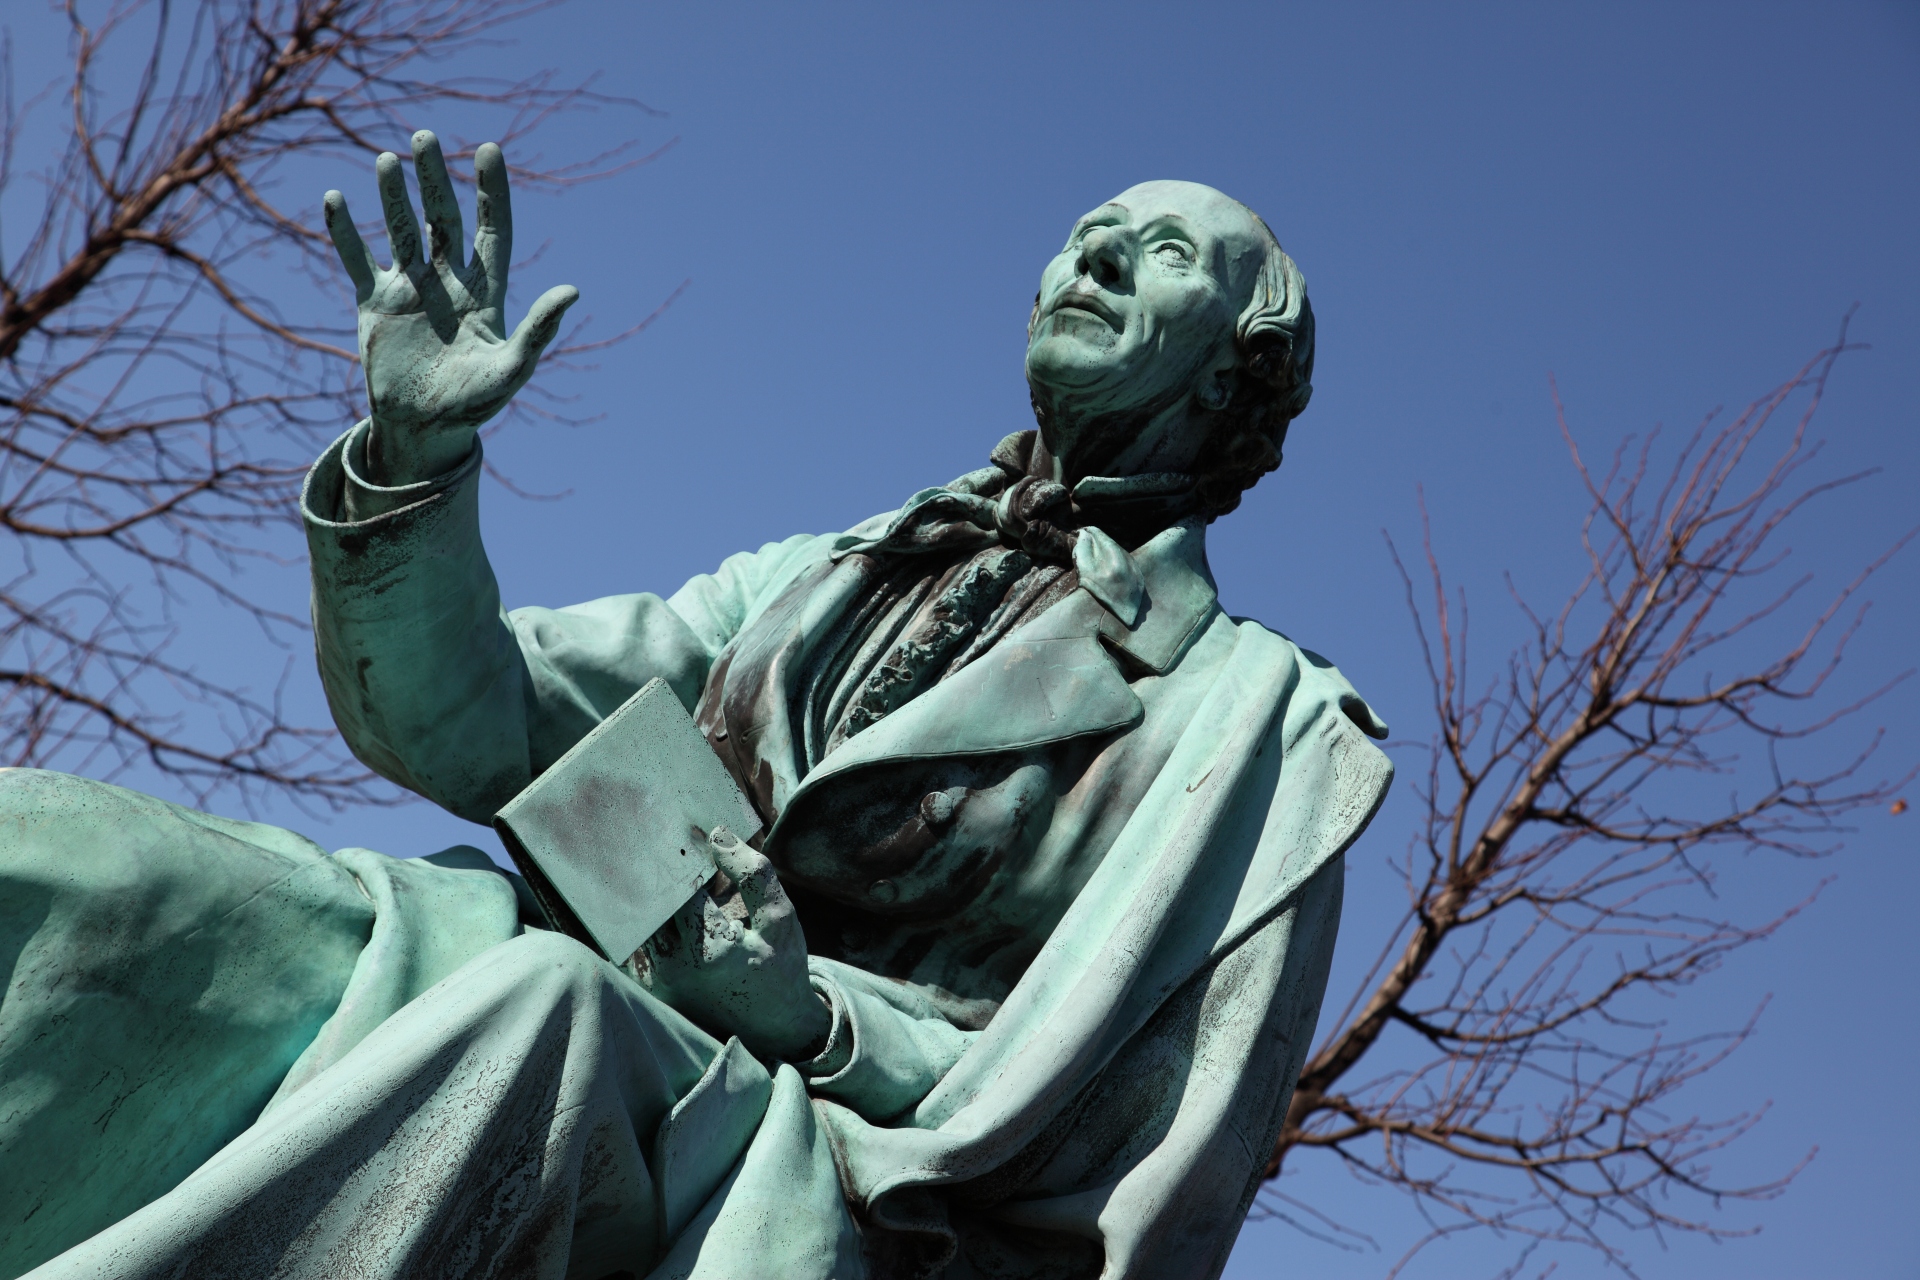
[[[474,850],[326,854],[0,773],[0,1276],[1213,1276],[1284,1115],[1384,725],[1227,618],[1206,526],[1311,391],[1306,286],[1219,192],[1081,219],[1037,430],[670,597],[507,612],[505,330],[430,134],[392,267],[338,192],[372,416],[301,499],[374,770],[488,821],[664,679],[766,831],[622,965]]]

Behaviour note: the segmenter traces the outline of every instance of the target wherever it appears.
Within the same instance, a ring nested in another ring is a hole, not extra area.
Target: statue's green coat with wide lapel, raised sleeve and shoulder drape
[[[910,1109],[897,1080],[876,1107],[860,1080],[812,1092],[868,1224],[937,1236],[966,1203],[1098,1242],[1112,1276],[1223,1265],[1319,1013],[1336,860],[1390,766],[1331,664],[1221,612],[1200,522],[1135,553],[1135,618],[1075,591],[803,773],[795,674],[858,599],[839,539],[732,557],[666,601],[503,614],[478,459],[374,532],[317,518],[357,486],[334,457],[307,507],[334,716],[363,760],[457,814],[490,816],[653,676],[735,760],[776,865],[835,791],[902,762],[1094,743],[1083,804],[1056,804],[1039,841],[1091,842],[1094,867],[987,1027],[908,1086],[929,1086]]]

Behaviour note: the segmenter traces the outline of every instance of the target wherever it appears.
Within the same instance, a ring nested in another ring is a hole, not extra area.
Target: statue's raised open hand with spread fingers
[[[465,228],[447,161],[440,140],[424,129],[413,134],[413,163],[426,213],[424,251],[399,157],[386,152],[374,165],[392,267],[372,261],[346,196],[326,192],[326,230],[359,305],[361,368],[372,407],[369,480],[388,486],[459,466],[480,424],[526,386],[561,317],[580,297],[570,284],[547,290],[509,338],[513,205],[505,157],[492,142],[474,154],[480,190],[468,261],[461,261]]]

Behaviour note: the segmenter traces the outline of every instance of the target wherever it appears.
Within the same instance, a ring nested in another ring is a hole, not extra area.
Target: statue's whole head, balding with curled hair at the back
[[[1311,370],[1300,271],[1252,209],[1198,182],[1142,182],[1079,219],[1027,328],[1064,478],[1185,470],[1208,514],[1279,464]]]

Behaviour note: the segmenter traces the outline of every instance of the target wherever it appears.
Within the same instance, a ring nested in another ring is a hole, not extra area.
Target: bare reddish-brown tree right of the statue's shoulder
[[[1759,624],[1778,628],[1809,581],[1776,581],[1782,526],[1860,478],[1801,482],[1818,453],[1809,424],[1847,349],[1841,328],[1738,418],[1709,416],[1665,474],[1657,434],[1626,439],[1596,470],[1555,397],[1590,499],[1586,570],[1551,614],[1509,581],[1528,641],[1486,683],[1469,672],[1465,597],[1450,593],[1430,530],[1425,606],[1388,539],[1436,718],[1415,785],[1425,818],[1400,865],[1407,913],[1308,1061],[1267,1173],[1321,1150],[1411,1196],[1430,1232],[1396,1274],[1427,1244],[1476,1226],[1521,1240],[1523,1261],[1574,1244],[1630,1272],[1624,1232],[1740,1234],[1705,1209],[1764,1199],[1797,1173],[1720,1184],[1713,1157],[1764,1107],[1718,1119],[1680,1109],[1682,1090],[1740,1048],[1759,1011],[1674,1034],[1661,1002],[1811,902],[1730,919],[1715,850],[1824,856],[1847,814],[1912,777],[1862,779],[1878,735],[1839,760],[1822,739],[1799,752],[1814,768],[1788,764],[1789,747],[1905,679],[1822,706],[1864,614],[1859,591],[1912,533],[1784,652],[1753,656]],[[1786,439],[1766,461],[1757,449],[1770,428]],[[1294,1205],[1269,1211],[1298,1217]]]

